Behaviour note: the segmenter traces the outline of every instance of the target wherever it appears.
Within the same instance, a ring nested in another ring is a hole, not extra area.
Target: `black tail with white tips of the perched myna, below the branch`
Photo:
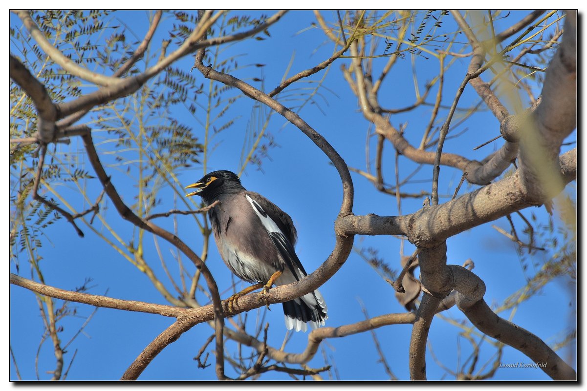
[[[313,291],[302,297],[291,301],[286,301],[284,305],[285,327],[288,330],[295,331],[308,330],[308,324],[311,329],[324,325],[328,319],[328,307],[319,291]]]

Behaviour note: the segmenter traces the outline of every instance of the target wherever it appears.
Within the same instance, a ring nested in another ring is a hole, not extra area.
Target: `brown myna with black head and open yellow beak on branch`
[[[259,288],[265,294],[274,284],[295,283],[307,275],[294,250],[297,232],[291,217],[259,193],[247,191],[234,172],[210,172],[185,189],[196,189],[186,197],[198,195],[212,206],[208,217],[222,260],[241,280],[253,284],[228,299],[230,312],[245,294]],[[305,332],[308,325],[316,329],[328,319],[318,290],[282,304],[288,330]]]

